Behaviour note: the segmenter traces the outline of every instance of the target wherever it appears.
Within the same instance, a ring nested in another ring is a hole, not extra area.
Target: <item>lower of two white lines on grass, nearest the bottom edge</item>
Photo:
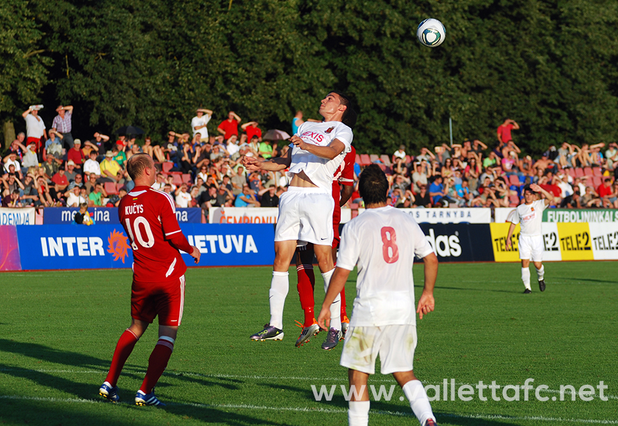
[[[16,395],[0,395],[0,399],[10,399],[13,401],[40,401],[54,403],[108,403],[108,401],[92,400],[92,399],[71,399],[71,398],[41,398],[41,397],[21,397]],[[268,407],[264,405],[249,405],[249,404],[198,404],[198,403],[168,403],[168,405],[190,406],[199,408],[224,408],[233,410],[262,410],[262,411],[288,411],[288,412],[317,412],[328,414],[346,414],[345,408],[310,408],[310,407]],[[410,412],[391,412],[385,410],[370,410],[371,414],[382,414],[387,416],[412,417]],[[508,420],[508,421],[543,421],[543,422],[567,422],[567,423],[585,423],[595,425],[618,425],[618,421],[613,420],[594,420],[589,418],[557,418],[545,416],[500,416],[495,414],[438,414],[438,418],[477,418],[482,420]]]

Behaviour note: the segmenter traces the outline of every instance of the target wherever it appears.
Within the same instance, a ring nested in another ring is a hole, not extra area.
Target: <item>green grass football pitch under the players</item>
[[[422,282],[422,265],[415,265]],[[516,263],[442,264],[436,310],[418,324],[415,374],[425,385],[454,379],[501,386],[546,385],[537,401],[433,401],[440,425],[618,425],[618,267],[615,262],[545,263],[547,290],[522,294]],[[117,338],[128,326],[130,270],[0,274],[0,422],[8,425],[347,425],[339,388],[341,345],[325,352],[323,334],[294,343],[302,320],[290,270],[282,342],[251,342],[268,322],[270,268],[187,271],[183,324],[157,395],[163,409],[132,405],[156,341],[138,342],[120,378],[121,403],[98,388]],[[351,275],[351,280],[354,278]],[[533,279],[536,276],[532,270]],[[322,287],[317,284],[317,289]],[[352,305],[354,281],[347,283]],[[420,288],[417,287],[417,296]],[[316,291],[317,306],[323,292]],[[379,369],[378,369],[379,370]],[[604,381],[608,401],[560,401],[561,385]],[[387,388],[392,377],[370,382]],[[337,388],[315,401],[311,385]],[[477,392],[475,390],[475,392]],[[430,396],[433,391],[430,391]],[[372,398],[371,425],[417,425],[400,388]],[[514,395],[511,391],[507,395]],[[556,401],[552,401],[556,397]],[[441,398],[442,399],[442,398]],[[520,399],[523,399],[523,392]]]

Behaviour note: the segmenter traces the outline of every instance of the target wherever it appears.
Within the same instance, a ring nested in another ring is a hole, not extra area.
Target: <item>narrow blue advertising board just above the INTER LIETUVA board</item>
[[[43,224],[71,224],[73,217],[80,209],[77,207],[47,207],[43,210]],[[119,224],[117,207],[89,207],[88,211],[95,224]],[[201,222],[202,211],[199,208],[176,209],[176,219],[179,223],[198,224]]]

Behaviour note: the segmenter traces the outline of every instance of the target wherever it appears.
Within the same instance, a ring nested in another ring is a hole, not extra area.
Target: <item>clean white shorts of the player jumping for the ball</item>
[[[332,194],[319,188],[289,187],[279,198],[275,241],[332,244]]]

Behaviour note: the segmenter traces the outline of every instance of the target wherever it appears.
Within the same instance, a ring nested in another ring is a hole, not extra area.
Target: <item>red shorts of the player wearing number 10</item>
[[[159,325],[178,326],[185,305],[185,276],[163,283],[138,283],[131,286],[131,317]]]

